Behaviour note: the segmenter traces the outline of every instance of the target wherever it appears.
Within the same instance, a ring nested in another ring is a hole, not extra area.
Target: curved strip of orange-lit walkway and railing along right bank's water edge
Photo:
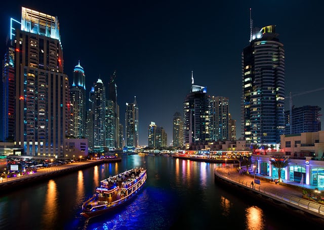
[[[270,189],[268,187],[264,187],[261,185],[258,185],[254,183],[254,185],[251,185],[251,180],[243,180],[243,179],[238,179],[235,180],[228,176],[227,173],[223,173],[220,170],[217,170],[215,168],[214,170],[215,174],[225,180],[231,181],[232,183],[235,183],[236,185],[245,187],[247,189],[250,189],[252,191],[255,191],[257,193],[263,194],[267,197],[271,197],[275,200],[278,200],[282,203],[286,203],[295,207],[298,207],[302,210],[308,210],[310,213],[314,213],[316,216],[320,216],[321,218],[324,218],[324,205],[308,201],[303,198],[295,197],[289,194],[281,193],[278,190]]]

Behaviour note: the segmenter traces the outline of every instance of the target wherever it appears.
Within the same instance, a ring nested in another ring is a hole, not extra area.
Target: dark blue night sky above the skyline
[[[321,1],[5,1],[0,9],[0,53],[10,17],[21,7],[57,16],[64,72],[72,81],[78,60],[86,73],[87,96],[99,74],[107,85],[117,70],[121,123],[126,103],[139,106],[139,142],[147,145],[151,121],[172,142],[172,118],[194,83],[211,96],[229,98],[240,133],[241,52],[254,26],[276,25],[286,57],[286,95],[324,87],[324,14]],[[324,109],[324,90],[293,97],[295,106]],[[287,98],[286,110],[289,110]],[[322,113],[322,111],[321,111]],[[323,125],[322,125],[323,127]],[[323,128],[322,128],[323,129]]]

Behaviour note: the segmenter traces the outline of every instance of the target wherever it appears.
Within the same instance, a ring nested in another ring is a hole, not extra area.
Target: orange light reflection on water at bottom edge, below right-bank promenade
[[[247,229],[249,230],[264,229],[262,209],[255,206],[247,208],[246,223],[247,223]]]

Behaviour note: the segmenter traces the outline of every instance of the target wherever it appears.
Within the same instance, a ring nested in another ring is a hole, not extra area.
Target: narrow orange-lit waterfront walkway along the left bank
[[[38,182],[44,179],[51,179],[56,176],[64,175],[72,171],[88,168],[102,163],[111,163],[119,161],[121,161],[120,157],[114,157],[100,160],[75,161],[70,164],[62,164],[37,169],[37,172],[33,174],[3,178],[2,181],[0,181],[0,191],[3,194],[5,192],[11,191],[12,189],[19,189],[28,183]]]

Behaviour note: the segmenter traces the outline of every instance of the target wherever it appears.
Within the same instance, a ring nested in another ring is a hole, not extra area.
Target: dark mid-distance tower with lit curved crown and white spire
[[[183,103],[183,139],[188,147],[195,142],[210,140],[209,96],[207,88],[194,85],[191,72],[191,91]]]

